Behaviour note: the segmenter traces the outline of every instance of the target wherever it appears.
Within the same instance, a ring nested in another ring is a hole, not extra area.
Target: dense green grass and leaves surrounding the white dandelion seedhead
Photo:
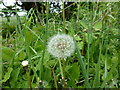
[[[1,87],[119,88],[119,2],[26,3],[25,16],[18,15],[18,4],[1,10]],[[57,33],[72,36],[76,45],[62,62],[65,79],[46,49]]]

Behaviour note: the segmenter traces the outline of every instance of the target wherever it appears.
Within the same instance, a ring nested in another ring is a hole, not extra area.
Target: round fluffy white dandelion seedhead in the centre
[[[54,57],[67,58],[75,51],[75,45],[69,35],[57,34],[50,38],[47,49]]]

